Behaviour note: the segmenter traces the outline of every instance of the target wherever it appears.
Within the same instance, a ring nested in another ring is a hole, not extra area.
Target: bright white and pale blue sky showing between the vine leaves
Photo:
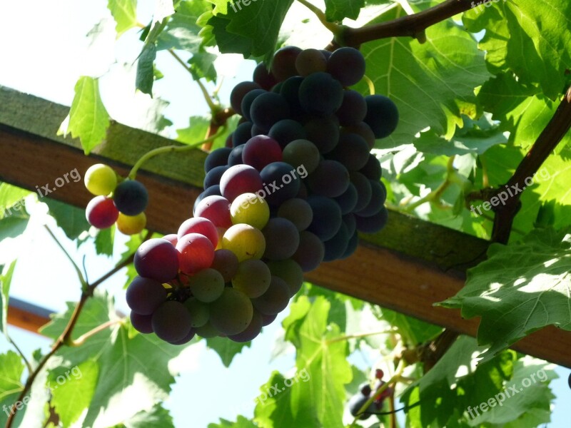
[[[151,16],[152,10],[153,1],[139,1],[138,13],[144,19]],[[103,34],[90,46],[85,35],[102,18],[106,19],[101,24]],[[143,18],[141,21],[145,22]],[[137,49],[140,49],[138,42],[133,42],[136,30],[131,30],[116,41],[113,27],[105,0],[0,0],[0,85],[69,105],[79,76],[101,76],[111,70],[101,78],[101,92],[108,112],[117,121],[130,126],[143,126],[141,118],[146,117],[149,108],[156,107],[156,101],[133,90],[133,61]],[[324,36],[318,32],[310,41],[313,46],[325,46],[327,37],[327,34]],[[302,46],[301,43],[299,45]],[[189,116],[203,114],[208,108],[198,86],[168,54],[159,53],[157,63],[158,68],[168,76],[156,82],[155,90],[170,102],[164,113],[173,121],[168,131],[168,135],[173,137],[176,128],[188,126]],[[254,66],[251,61],[242,61],[241,56],[225,56],[219,65],[218,70],[225,76],[220,92],[222,99],[228,98],[231,88],[238,81],[249,78]],[[180,82],[184,81],[188,81],[188,85],[181,85]],[[212,90],[213,86],[208,88]],[[74,243],[66,240],[53,220],[41,215],[42,208],[37,209],[40,214],[34,216],[23,239],[16,243],[0,243],[0,260],[8,251],[8,244],[10,252],[20,248],[22,256],[11,295],[50,310],[65,310],[66,301],[79,299],[79,284],[74,280],[73,268],[42,228],[43,221],[51,224],[52,230],[74,254],[77,263],[81,264],[81,258],[86,254],[92,279],[106,272],[116,260],[97,256],[90,245],[75,250]],[[120,245],[120,240],[117,240],[118,253],[121,252]],[[121,291],[123,283],[124,275],[120,272],[103,288],[116,295],[119,310],[128,312],[124,292]],[[281,318],[283,316],[285,314]],[[280,319],[266,328],[251,348],[236,356],[231,369],[223,367],[218,355],[206,350],[203,343],[188,348],[178,358],[176,368],[181,370],[181,376],[177,378],[171,397],[165,404],[171,410],[177,427],[188,426],[188,417],[191,417],[193,427],[200,428],[206,427],[209,422],[216,422],[219,417],[235,419],[237,414],[252,415],[255,406],[253,400],[260,393],[258,388],[267,382],[271,371],[286,373],[293,367],[293,352],[270,361],[274,340],[281,330],[278,328],[279,322]],[[46,338],[16,327],[11,327],[11,335],[28,355],[37,347],[45,350],[49,346]],[[8,349],[9,345],[0,338],[0,352]],[[555,393],[566,397],[568,402],[570,394],[566,384],[569,371],[561,369],[559,372],[562,378],[553,382]],[[221,387],[223,402],[218,398]],[[189,415],[189,402],[194,409],[201,410]],[[571,417],[571,409],[557,406],[553,417],[556,419],[552,427],[565,426]]]

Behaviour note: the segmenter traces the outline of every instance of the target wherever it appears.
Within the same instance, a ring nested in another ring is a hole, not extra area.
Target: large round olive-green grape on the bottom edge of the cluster
[[[237,335],[246,330],[253,317],[251,300],[236,288],[224,288],[222,295],[210,304],[211,325],[224,335]]]

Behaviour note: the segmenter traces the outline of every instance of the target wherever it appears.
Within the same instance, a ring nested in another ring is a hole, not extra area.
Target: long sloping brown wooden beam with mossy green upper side
[[[4,104],[2,96],[0,88],[0,105],[16,106],[14,108],[24,105],[21,94],[14,96],[14,93],[4,91]],[[141,152],[173,143],[114,123],[106,143],[98,148],[98,153],[87,157],[76,141],[54,137],[57,127],[52,122],[55,118],[63,120],[66,109],[32,98],[36,111],[51,112],[46,113],[49,120],[43,122],[41,129],[37,124],[29,126],[29,121],[33,121],[32,117],[26,119],[31,115],[29,111],[22,113],[24,119],[17,113],[0,111],[0,180],[23,188],[35,191],[36,185],[45,185],[46,180],[54,183],[56,178],[74,168],[83,176],[89,165],[97,161],[112,165],[125,175],[128,166]],[[54,114],[54,111],[59,113]],[[18,127],[6,124],[9,121],[15,121]],[[28,131],[19,128],[26,124],[24,122],[28,123]],[[46,127],[45,123],[51,125]],[[49,129],[54,134],[46,131]],[[145,142],[143,148],[141,141]],[[173,233],[191,215],[193,201],[201,191],[205,156],[198,150],[171,153],[141,170],[138,179],[146,185],[150,195],[146,210],[148,228]],[[91,198],[82,180],[68,183],[49,196],[81,208]],[[477,320],[463,320],[458,310],[433,307],[433,303],[455,295],[463,287],[466,268],[485,255],[488,245],[485,240],[400,213],[390,213],[388,225],[381,233],[362,238],[363,243],[351,258],[323,263],[309,272],[307,279],[331,290],[475,336]],[[517,342],[514,349],[571,367],[570,343],[570,332],[547,327]]]

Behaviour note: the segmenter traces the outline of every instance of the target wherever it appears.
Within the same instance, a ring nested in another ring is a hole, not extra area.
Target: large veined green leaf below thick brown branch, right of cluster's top
[[[404,16],[393,8],[373,22]],[[426,30],[427,41],[393,37],[363,44],[367,76],[376,93],[390,97],[398,106],[400,121],[393,134],[377,141],[383,148],[408,144],[430,126],[438,135],[450,138],[461,115],[475,116],[474,88],[487,81],[484,54],[475,40],[453,21]],[[368,93],[368,86],[357,86]]]

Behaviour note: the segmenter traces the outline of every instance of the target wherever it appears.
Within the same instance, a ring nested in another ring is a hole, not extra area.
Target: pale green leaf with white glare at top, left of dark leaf
[[[157,49],[180,49],[198,53],[202,44],[198,32],[202,27],[197,24],[197,20],[208,10],[208,4],[204,1],[181,1],[176,8],[176,14],[158,36]]]

